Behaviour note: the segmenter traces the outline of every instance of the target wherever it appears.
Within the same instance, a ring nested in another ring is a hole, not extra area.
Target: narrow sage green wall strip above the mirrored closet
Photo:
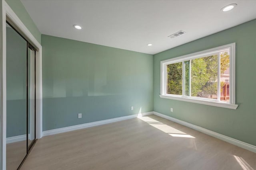
[[[41,43],[41,33],[20,0],[5,0],[30,33]]]

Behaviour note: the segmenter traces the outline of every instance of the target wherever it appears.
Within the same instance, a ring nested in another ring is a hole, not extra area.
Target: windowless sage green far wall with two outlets
[[[153,55],[49,35],[42,48],[43,131],[153,111]]]

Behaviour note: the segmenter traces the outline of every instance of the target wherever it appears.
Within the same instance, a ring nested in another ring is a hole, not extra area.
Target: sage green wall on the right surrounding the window
[[[185,36],[185,35],[184,35]],[[175,39],[174,39],[175,41]],[[160,61],[236,43],[236,110],[160,98]],[[256,20],[154,55],[154,111],[256,145]],[[170,112],[173,107],[173,112]]]

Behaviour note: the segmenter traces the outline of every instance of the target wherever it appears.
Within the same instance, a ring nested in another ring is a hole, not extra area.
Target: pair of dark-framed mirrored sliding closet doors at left
[[[35,141],[35,49],[6,23],[6,169],[17,170]]]

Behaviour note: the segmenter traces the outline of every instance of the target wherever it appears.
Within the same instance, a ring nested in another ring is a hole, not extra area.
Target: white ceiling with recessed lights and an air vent
[[[256,18],[256,0],[22,0],[42,34],[148,54]],[[238,6],[229,12],[220,9]],[[79,24],[82,30],[72,25]],[[177,31],[186,33],[176,38]],[[148,47],[147,44],[153,45]]]

